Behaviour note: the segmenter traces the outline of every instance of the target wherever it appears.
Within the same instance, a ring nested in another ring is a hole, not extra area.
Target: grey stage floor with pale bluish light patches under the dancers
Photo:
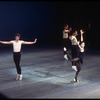
[[[100,98],[99,53],[85,53],[79,83],[61,48],[23,49],[21,68],[23,80],[16,81],[12,51],[0,52],[0,93],[7,98]]]

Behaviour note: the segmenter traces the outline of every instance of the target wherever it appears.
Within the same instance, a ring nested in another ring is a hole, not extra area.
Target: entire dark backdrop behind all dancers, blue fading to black
[[[62,45],[62,30],[67,23],[83,28],[87,48],[100,48],[99,1],[0,1],[0,40],[38,38],[39,45]],[[1,45],[1,44],[0,44]]]

